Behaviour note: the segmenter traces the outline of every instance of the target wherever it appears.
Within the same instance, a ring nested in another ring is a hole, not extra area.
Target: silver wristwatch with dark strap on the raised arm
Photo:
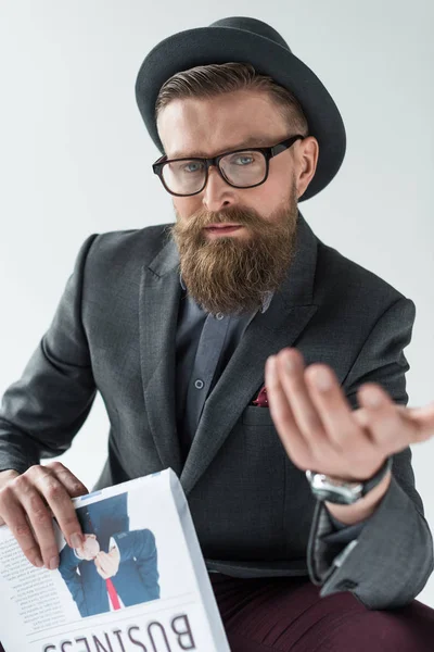
[[[376,487],[391,468],[392,457],[387,457],[380,471],[372,478],[365,481],[346,482],[314,471],[306,471],[306,477],[314,496],[318,500],[327,500],[340,505],[350,505]]]

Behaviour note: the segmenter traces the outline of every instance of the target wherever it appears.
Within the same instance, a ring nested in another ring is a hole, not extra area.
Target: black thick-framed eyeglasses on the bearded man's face
[[[220,176],[233,188],[255,188],[268,178],[270,159],[292,147],[304,136],[292,136],[272,147],[225,152],[210,159],[167,159],[163,155],[152,166],[167,192],[177,197],[190,197],[202,192],[208,180],[208,170],[215,165]]]

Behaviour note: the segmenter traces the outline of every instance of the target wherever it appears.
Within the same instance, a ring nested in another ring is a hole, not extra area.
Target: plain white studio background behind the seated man
[[[277,28],[337,103],[346,159],[301,210],[323,242],[414,301],[409,405],[434,400],[432,0],[2,0],[1,393],[48,328],[85,238],[174,221],[152,174],[159,152],[136,105],[136,76],[163,38],[231,15]],[[107,428],[98,397],[62,457],[89,487]],[[434,442],[412,451],[433,528]],[[434,606],[434,576],[418,599]]]

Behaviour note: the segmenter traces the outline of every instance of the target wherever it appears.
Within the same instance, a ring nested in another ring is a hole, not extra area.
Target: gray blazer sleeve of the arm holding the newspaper
[[[86,261],[98,234],[81,244],[50,327],[0,408],[0,471],[24,473],[65,452],[86,421],[97,389],[81,323]]]

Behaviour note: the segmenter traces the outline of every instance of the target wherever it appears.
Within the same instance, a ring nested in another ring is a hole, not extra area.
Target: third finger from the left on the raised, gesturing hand
[[[342,454],[354,452],[359,455],[372,441],[368,431],[354,418],[353,409],[337,380],[333,369],[324,364],[311,364],[306,369],[306,383],[316,405],[327,437],[334,450]]]

